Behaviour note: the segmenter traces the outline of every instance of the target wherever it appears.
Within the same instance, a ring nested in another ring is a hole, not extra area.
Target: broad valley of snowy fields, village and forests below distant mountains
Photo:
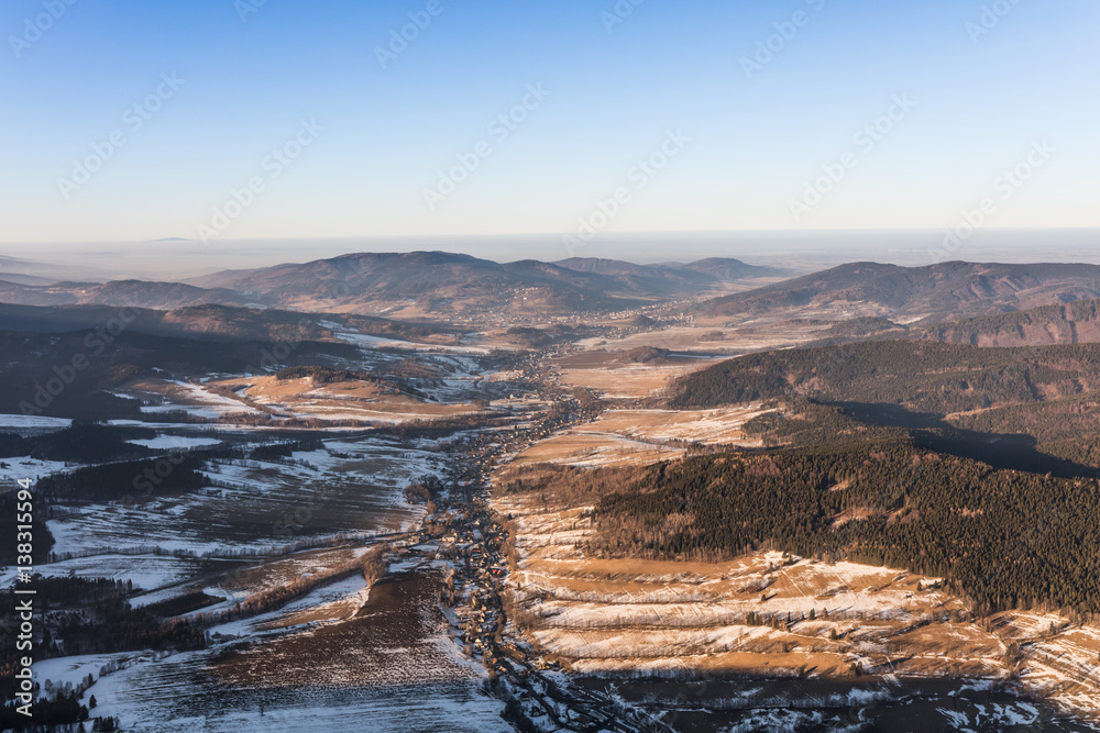
[[[95,329],[20,308],[40,365]],[[44,699],[151,732],[1094,730],[1094,345],[692,308],[143,313],[4,419]]]

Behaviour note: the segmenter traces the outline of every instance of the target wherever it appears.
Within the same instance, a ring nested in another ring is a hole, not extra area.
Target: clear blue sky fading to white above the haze
[[[253,1],[7,0],[0,242],[1100,224],[1097,0]]]

